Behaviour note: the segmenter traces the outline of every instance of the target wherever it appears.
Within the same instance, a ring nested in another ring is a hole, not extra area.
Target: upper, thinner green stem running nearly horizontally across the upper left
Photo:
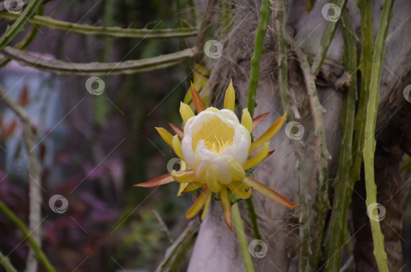
[[[6,20],[14,21],[18,18],[18,14],[8,12],[1,13]],[[168,39],[196,36],[196,29],[191,27],[184,28],[167,28],[167,29],[135,29],[109,26],[93,26],[88,24],[77,24],[53,19],[51,17],[35,15],[30,19],[30,23],[37,27],[46,26],[51,29],[73,32],[83,35],[98,35],[116,38],[131,38],[131,39]]]

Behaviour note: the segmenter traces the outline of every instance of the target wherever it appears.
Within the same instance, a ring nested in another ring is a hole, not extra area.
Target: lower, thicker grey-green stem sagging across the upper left
[[[104,63],[72,63],[62,60],[43,60],[42,58],[31,56],[24,51],[12,47],[6,47],[2,53],[8,58],[20,62],[22,65],[32,66],[36,69],[57,75],[108,76],[142,73],[163,69],[165,67],[177,65],[183,60],[194,57],[196,52],[195,48],[189,48],[151,58]]]

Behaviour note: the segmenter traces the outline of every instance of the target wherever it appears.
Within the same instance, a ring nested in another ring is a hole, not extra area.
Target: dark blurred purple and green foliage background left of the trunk
[[[193,7],[191,0],[55,0],[46,5],[44,15],[101,26],[194,28],[201,9]],[[0,21],[2,33],[9,23]],[[29,24],[15,41],[20,41],[28,29]],[[41,27],[27,50],[70,62],[116,62],[176,52],[194,43],[195,37],[117,39]],[[9,81],[9,88],[18,83],[11,96],[26,92],[25,107],[41,108],[30,118],[36,121],[39,140],[45,137],[37,147],[44,154],[40,181],[44,188],[42,216],[46,217],[42,223],[43,249],[57,271],[118,271],[120,265],[127,271],[152,271],[170,245],[152,210],[158,212],[171,236],[178,236],[185,228],[184,213],[191,198],[176,197],[178,184],[158,189],[132,187],[167,173],[165,165],[174,157],[154,126],[181,122],[179,102],[192,80],[193,63],[184,65],[102,77],[106,87],[99,96],[87,92],[88,77],[56,76],[35,70],[24,76],[26,71],[16,72],[13,62],[0,70],[0,80],[5,85]],[[13,114],[4,104],[0,107],[3,123],[11,124]],[[54,110],[49,112],[48,108]],[[47,114],[55,115],[54,120],[46,121]],[[26,159],[15,159],[22,149],[18,120],[0,145],[6,147],[0,150],[0,198],[27,224]],[[48,199],[54,194],[67,198],[65,213],[54,213],[48,207]],[[2,214],[0,225],[0,251],[5,255],[12,252],[11,262],[22,271],[28,244],[19,244],[23,235]]]

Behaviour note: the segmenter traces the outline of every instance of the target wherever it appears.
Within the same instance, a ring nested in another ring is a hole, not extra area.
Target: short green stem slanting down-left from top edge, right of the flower
[[[335,5],[337,5],[341,11],[344,11],[346,8],[347,0],[336,0]],[[335,30],[337,29],[338,21],[329,21],[323,36],[321,37],[320,46],[318,47],[317,55],[314,59],[313,65],[311,67],[311,73],[314,75],[318,75],[321,70],[321,65],[323,65],[323,61],[325,59],[325,55],[327,54],[328,47],[330,46],[332,38],[334,38]]]

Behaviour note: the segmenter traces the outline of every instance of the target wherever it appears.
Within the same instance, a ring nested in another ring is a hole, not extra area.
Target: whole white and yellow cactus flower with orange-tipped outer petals
[[[256,190],[286,207],[296,207],[297,205],[276,191],[246,176],[247,169],[275,151],[269,151],[269,140],[284,124],[286,113],[251,142],[251,132],[268,113],[252,119],[248,110],[244,109],[240,122],[234,113],[235,92],[232,82],[226,90],[222,110],[213,107],[206,109],[192,84],[191,94],[197,115],[194,115],[187,104],[181,103],[180,114],[184,129],[170,124],[176,133],[173,136],[166,129],[156,127],[161,138],[173,147],[176,155],[187,164],[187,169],[173,170],[171,174],[135,186],[154,187],[176,181],[181,183],[179,193],[203,188],[194,205],[187,211],[187,219],[192,218],[205,206],[201,216],[203,219],[207,214],[212,193],[219,194],[225,221],[231,231],[230,194],[247,199],[252,190]],[[256,154],[249,158],[255,152]]]

